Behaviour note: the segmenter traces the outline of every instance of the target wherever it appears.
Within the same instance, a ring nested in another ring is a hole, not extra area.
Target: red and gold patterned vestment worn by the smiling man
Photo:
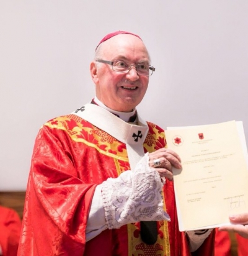
[[[148,126],[144,152],[166,147],[164,131]],[[86,242],[95,186],[125,170],[130,170],[126,145],[104,130],[74,114],[47,122],[33,150],[18,255],[189,256],[187,236],[177,224],[171,181],[163,188],[171,221],[157,222],[156,244],[142,242],[139,222],[107,229]],[[213,255],[213,247],[214,232],[194,255]]]

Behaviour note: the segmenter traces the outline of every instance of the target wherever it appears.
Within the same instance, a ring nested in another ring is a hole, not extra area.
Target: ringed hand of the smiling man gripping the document
[[[156,160],[158,160],[160,165],[156,165]],[[172,167],[182,168],[180,162],[179,155],[170,149],[159,149],[149,153],[149,167],[156,168],[161,178],[165,177],[168,180],[173,180]]]

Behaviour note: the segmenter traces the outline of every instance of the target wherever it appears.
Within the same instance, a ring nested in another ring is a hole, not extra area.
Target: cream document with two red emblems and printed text
[[[242,122],[167,127],[180,231],[219,227],[229,214],[248,212],[247,148]]]

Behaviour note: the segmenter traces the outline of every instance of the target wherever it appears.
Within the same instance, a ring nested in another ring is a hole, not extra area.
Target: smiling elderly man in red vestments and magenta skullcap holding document
[[[38,133],[19,255],[213,255],[213,232],[179,232],[180,158],[136,110],[154,71],[138,35],[100,41],[95,98]]]

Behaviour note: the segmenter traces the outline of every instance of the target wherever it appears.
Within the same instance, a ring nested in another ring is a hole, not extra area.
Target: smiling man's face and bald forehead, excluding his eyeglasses
[[[102,60],[123,60],[137,65],[149,63],[148,52],[144,43],[135,35],[116,35],[102,45]],[[148,88],[149,77],[138,75],[135,68],[128,73],[112,70],[112,66],[91,63],[92,80],[96,86],[97,98],[105,106],[115,111],[130,112],[143,99]]]

